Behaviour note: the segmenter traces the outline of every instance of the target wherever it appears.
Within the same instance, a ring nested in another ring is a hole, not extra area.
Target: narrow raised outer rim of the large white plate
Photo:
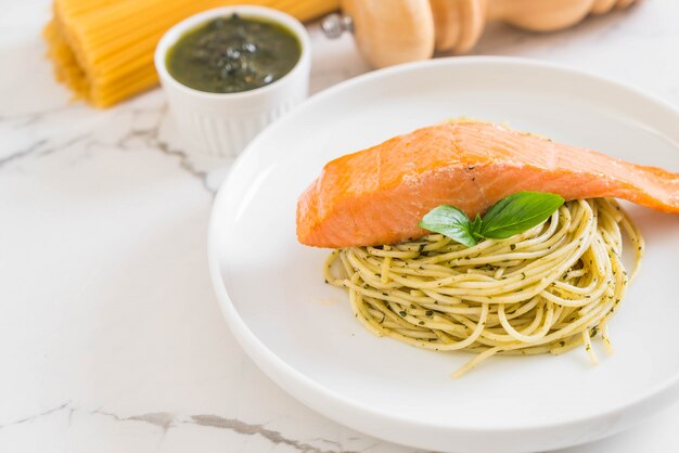
[[[645,102],[655,104],[657,107],[662,107],[666,109],[668,115],[672,115],[679,121],[679,109],[676,108],[672,104],[659,99],[658,96],[644,92],[631,85],[622,82],[619,80],[611,79],[601,75],[574,69],[572,67],[563,66],[560,64],[554,64],[550,62],[537,61],[531,59],[523,59],[523,57],[508,57],[508,56],[456,56],[456,57],[446,57],[446,59],[437,59],[424,62],[414,62],[398,66],[393,66],[384,69],[374,70],[371,73],[367,73],[351,79],[345,80],[341,83],[337,83],[331,88],[328,88],[312,96],[310,96],[306,102],[296,107],[294,111],[289,113],[285,117],[276,121],[274,124],[267,127],[262,132],[260,132],[243,151],[243,153],[235,159],[233,163],[229,174],[232,172],[238,172],[239,168],[247,161],[248,157],[254,154],[254,150],[258,146],[259,142],[264,140],[267,135],[274,133],[276,130],[280,127],[283,127],[289,118],[294,118],[299,112],[304,112],[306,109],[312,108],[319,102],[322,102],[325,98],[329,98],[335,94],[338,91],[350,89],[351,87],[368,82],[375,78],[389,77],[395,74],[407,73],[411,70],[418,70],[423,67],[436,68],[439,66],[457,66],[457,65],[499,65],[499,66],[521,66],[525,69],[547,69],[554,70],[562,74],[566,74],[572,77],[580,78],[581,80],[586,80],[588,82],[594,83],[603,83],[610,87],[614,87],[618,90],[625,91],[628,94],[637,95],[643,99]],[[219,210],[219,206],[223,203],[222,199],[226,197],[226,194],[229,190],[231,178],[227,178],[218,193],[215,197],[215,202],[213,205],[213,210],[209,220],[208,228],[208,266],[209,272],[213,280],[213,284],[215,287],[215,292],[217,294],[219,306],[222,310],[222,313],[229,324],[231,331],[233,332],[236,340],[243,347],[245,352],[255,361],[255,363],[267,374],[272,380],[274,380],[279,386],[284,388],[289,393],[291,393],[296,399],[303,401],[306,405],[311,406],[312,409],[321,412],[323,415],[329,416],[337,422],[344,423],[345,425],[349,425],[346,422],[346,418],[336,416],[335,414],[323,410],[322,404],[315,403],[309,398],[303,398],[297,394],[297,392],[291,388],[290,384],[293,383],[298,386],[306,387],[308,390],[311,390],[317,397],[325,398],[326,402],[343,406],[345,410],[349,411],[359,411],[363,414],[369,414],[373,417],[379,417],[382,419],[389,420],[396,424],[406,424],[408,426],[420,426],[422,428],[430,429],[445,429],[452,431],[465,431],[465,432],[474,432],[479,435],[491,435],[491,433],[501,433],[501,432],[528,432],[536,430],[550,430],[554,428],[563,428],[567,426],[575,425],[585,425],[590,424],[592,422],[601,420],[604,418],[608,418],[612,416],[616,416],[623,414],[625,412],[637,410],[641,416],[642,413],[645,413],[652,403],[656,404],[656,409],[659,410],[659,406],[667,406],[672,401],[674,398],[664,398],[670,393],[674,397],[679,397],[679,373],[674,376],[665,379],[664,381],[657,384],[656,386],[648,389],[636,398],[630,400],[625,400],[623,403],[607,406],[605,410],[591,414],[585,417],[572,417],[565,420],[559,422],[549,422],[540,424],[533,424],[526,427],[474,427],[474,426],[460,426],[460,425],[450,425],[444,422],[440,423],[431,423],[431,422],[421,422],[418,419],[411,419],[406,416],[399,414],[393,414],[387,412],[379,411],[369,405],[362,404],[358,401],[354,401],[343,397],[342,394],[331,390],[318,383],[308,376],[304,375],[293,366],[289,365],[285,361],[279,358],[276,353],[273,353],[270,349],[268,349],[257,336],[247,327],[247,324],[242,320],[239,315],[238,311],[231,298],[228,295],[227,288],[223,285],[221,280],[221,273],[219,268],[219,254],[217,244],[217,235],[220,234],[218,231],[217,224],[219,223],[219,219],[216,212]],[[276,371],[276,373],[273,373]],[[281,375],[286,376],[286,378],[282,378]],[[289,381],[286,379],[293,379]],[[650,411],[649,411],[650,412]],[[655,410],[653,411],[655,412]],[[356,426],[353,426],[356,429],[359,429]],[[370,432],[368,432],[370,433]]]

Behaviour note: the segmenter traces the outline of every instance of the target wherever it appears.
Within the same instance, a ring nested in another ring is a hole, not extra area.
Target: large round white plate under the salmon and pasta
[[[366,332],[323,284],[328,250],[295,237],[295,204],[322,166],[414,128],[467,115],[679,172],[679,113],[625,86],[542,63],[457,57],[341,83],[261,133],[215,202],[212,276],[223,314],[281,387],[357,430],[423,449],[542,451],[614,433],[679,396],[679,216],[629,210],[648,243],[611,322],[616,353],[494,358]]]

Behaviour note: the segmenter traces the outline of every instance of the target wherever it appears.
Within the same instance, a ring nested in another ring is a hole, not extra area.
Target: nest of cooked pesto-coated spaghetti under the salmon
[[[643,253],[639,231],[610,198],[564,204],[550,219],[509,240],[466,247],[440,234],[332,253],[328,283],[345,287],[356,318],[379,336],[476,357],[559,354],[600,335],[625,296],[623,234]]]

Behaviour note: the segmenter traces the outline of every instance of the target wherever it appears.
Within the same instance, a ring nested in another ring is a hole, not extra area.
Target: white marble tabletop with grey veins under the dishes
[[[412,452],[306,409],[236,345],[206,263],[225,168],[184,156],[163,93],[69,103],[42,57],[48,1],[1,4],[0,452]],[[310,29],[313,91],[367,70],[348,37]],[[476,53],[563,63],[679,106],[676,0],[552,35],[494,26]],[[567,451],[676,452],[678,428],[675,405]]]

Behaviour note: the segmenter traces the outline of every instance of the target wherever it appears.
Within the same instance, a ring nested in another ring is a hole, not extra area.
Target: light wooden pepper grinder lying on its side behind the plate
[[[488,21],[552,31],[639,0],[342,0],[343,15],[323,21],[331,37],[354,33],[374,67],[458,54],[476,44]]]

